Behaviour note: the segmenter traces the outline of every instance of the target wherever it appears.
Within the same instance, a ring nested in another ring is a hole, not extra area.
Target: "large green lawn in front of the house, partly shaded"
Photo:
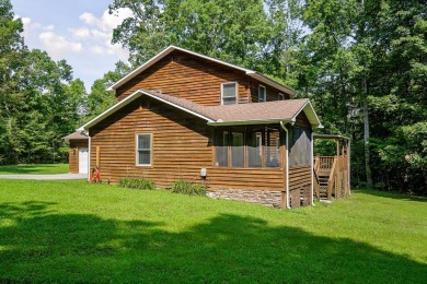
[[[0,282],[425,283],[427,200],[291,211],[85,181],[0,180]]]

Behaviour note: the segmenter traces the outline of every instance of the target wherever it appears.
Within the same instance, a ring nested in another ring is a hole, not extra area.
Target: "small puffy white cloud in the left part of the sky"
[[[57,35],[51,31],[41,33],[38,38],[41,39],[47,52],[55,57],[69,52],[79,54],[83,49],[81,43],[67,40],[66,37]]]

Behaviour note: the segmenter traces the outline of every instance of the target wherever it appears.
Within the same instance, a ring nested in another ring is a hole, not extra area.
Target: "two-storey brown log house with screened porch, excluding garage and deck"
[[[291,88],[175,46],[111,88],[115,104],[78,129],[103,181],[185,179],[206,182],[214,198],[312,204],[312,131],[322,125]]]

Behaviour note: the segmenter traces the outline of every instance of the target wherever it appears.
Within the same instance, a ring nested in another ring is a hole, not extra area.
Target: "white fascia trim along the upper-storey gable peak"
[[[122,78],[119,81],[114,83],[111,87],[108,87],[108,91],[116,91],[117,87],[119,87],[123,84],[127,83],[130,79],[132,79],[134,76],[136,76],[137,74],[142,72],[143,70],[148,69],[149,67],[151,67],[152,64],[154,64],[155,62],[158,62],[159,60],[161,60],[162,58],[164,58],[165,56],[168,56],[169,54],[171,54],[174,50],[180,50],[180,51],[193,55],[193,56],[197,56],[197,57],[207,59],[209,61],[212,61],[212,62],[216,62],[216,63],[219,63],[219,64],[222,64],[222,66],[227,66],[227,67],[230,67],[230,68],[233,68],[233,69],[238,69],[238,70],[243,71],[245,73],[254,72],[254,71],[245,69],[245,68],[241,68],[241,67],[238,67],[238,66],[234,66],[234,64],[231,64],[231,63],[227,63],[227,62],[221,61],[219,59],[215,59],[215,58],[211,58],[211,57],[208,57],[208,56],[204,56],[204,55],[200,55],[200,54],[197,54],[197,52],[194,52],[194,51],[191,51],[191,50],[187,50],[187,49],[184,49],[184,48],[171,45],[171,46],[166,47],[165,49],[163,49],[162,51],[160,51],[160,54],[158,54],[157,56],[154,56],[153,58],[148,60],[146,63],[143,63],[142,66],[138,67],[137,69],[131,71],[129,74],[127,74],[126,76]]]

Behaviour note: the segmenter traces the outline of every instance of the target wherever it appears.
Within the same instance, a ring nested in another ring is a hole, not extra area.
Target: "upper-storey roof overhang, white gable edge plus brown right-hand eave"
[[[124,84],[129,82],[132,78],[135,78],[136,75],[138,75],[142,71],[147,70],[148,68],[150,68],[151,66],[153,66],[154,63],[157,63],[158,61],[160,61],[162,58],[164,58],[165,56],[168,56],[169,54],[171,54],[174,50],[180,50],[180,51],[183,51],[183,52],[186,52],[186,54],[189,54],[189,55],[193,55],[193,56],[196,56],[196,57],[209,60],[211,62],[216,62],[218,64],[222,64],[222,66],[226,66],[226,67],[239,70],[239,71],[242,71],[246,75],[249,75],[249,76],[251,76],[253,79],[256,79],[259,82],[268,84],[268,85],[270,85],[273,87],[276,87],[277,90],[279,90],[279,91],[281,91],[281,92],[284,92],[286,94],[289,94],[291,96],[296,94],[296,91],[293,91],[293,90],[291,90],[289,87],[286,87],[282,84],[278,83],[278,82],[276,82],[276,81],[274,81],[274,80],[272,80],[272,79],[269,79],[269,78],[267,78],[267,76],[265,76],[265,75],[263,75],[263,74],[261,74],[261,73],[258,73],[256,71],[253,71],[253,70],[250,70],[250,69],[246,69],[246,68],[242,68],[242,67],[239,67],[239,66],[234,66],[234,64],[224,62],[222,60],[215,59],[215,58],[211,58],[211,57],[208,57],[208,56],[205,56],[205,55],[200,55],[200,54],[197,54],[197,52],[194,52],[194,51],[191,51],[191,50],[177,47],[177,46],[169,46],[169,47],[166,47],[160,54],[158,54],[157,56],[154,56],[153,58],[148,60],[146,63],[143,63],[142,66],[138,67],[137,69],[131,71],[129,74],[127,74],[126,76],[122,78],[119,81],[114,83],[108,90],[109,91],[116,91],[118,87],[123,86]]]

